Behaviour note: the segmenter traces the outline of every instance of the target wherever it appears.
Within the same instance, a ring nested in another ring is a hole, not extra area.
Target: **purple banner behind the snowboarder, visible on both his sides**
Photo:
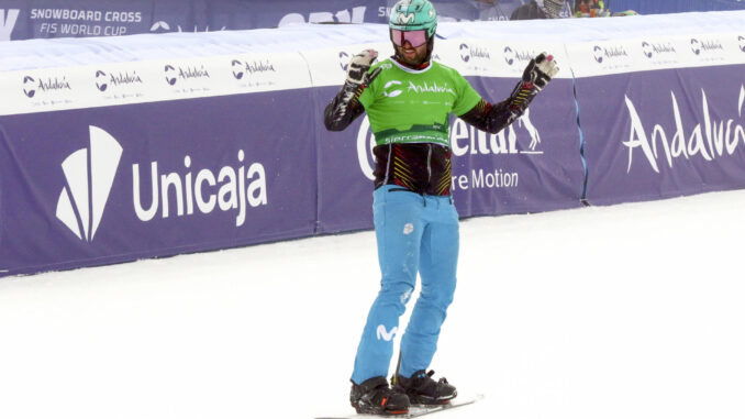
[[[509,96],[511,78],[468,77],[486,100]],[[585,173],[570,79],[554,80],[529,112],[499,134],[451,121],[453,195],[460,217],[538,212],[581,206]],[[316,89],[322,111],[338,88]],[[325,100],[325,101],[324,101]],[[320,117],[319,117],[320,118]],[[319,232],[371,227],[372,146],[359,118],[319,135]]]

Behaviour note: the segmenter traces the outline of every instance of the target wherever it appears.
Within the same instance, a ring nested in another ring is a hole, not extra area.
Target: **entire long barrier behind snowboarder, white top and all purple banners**
[[[460,216],[745,187],[744,20],[442,23],[434,58],[492,102],[542,51],[561,68],[499,134],[451,121]],[[369,123],[330,133],[322,113],[349,57],[387,40],[362,24],[0,44],[0,276],[371,228]]]

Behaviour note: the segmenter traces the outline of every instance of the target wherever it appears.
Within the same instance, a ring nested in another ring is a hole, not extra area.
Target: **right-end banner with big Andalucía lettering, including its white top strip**
[[[745,187],[742,40],[722,34],[569,47],[590,60],[577,67],[576,80],[590,203]]]

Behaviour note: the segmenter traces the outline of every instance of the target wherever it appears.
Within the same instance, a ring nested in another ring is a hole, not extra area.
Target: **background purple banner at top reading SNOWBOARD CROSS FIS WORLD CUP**
[[[0,41],[387,23],[388,0],[0,0]],[[520,0],[435,1],[440,20],[509,20]]]

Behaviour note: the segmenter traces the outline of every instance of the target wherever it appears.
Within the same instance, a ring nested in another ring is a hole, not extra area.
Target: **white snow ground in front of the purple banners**
[[[744,418],[744,208],[465,220],[436,417]],[[378,280],[371,232],[0,279],[0,418],[349,412]]]

